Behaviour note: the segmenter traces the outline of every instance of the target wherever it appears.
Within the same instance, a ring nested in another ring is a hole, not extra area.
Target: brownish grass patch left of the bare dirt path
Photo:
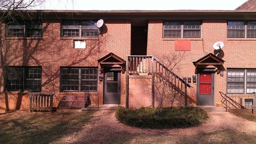
[[[0,144],[49,144],[80,131],[94,112],[15,111],[0,116]]]

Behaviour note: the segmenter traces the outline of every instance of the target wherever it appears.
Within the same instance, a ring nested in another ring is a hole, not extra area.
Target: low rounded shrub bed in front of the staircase
[[[199,126],[206,122],[209,116],[200,107],[164,107],[160,113],[157,112],[157,107],[118,107],[116,118],[127,126],[163,129]]]

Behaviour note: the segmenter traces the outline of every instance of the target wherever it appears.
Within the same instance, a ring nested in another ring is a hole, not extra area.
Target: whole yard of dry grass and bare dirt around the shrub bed
[[[256,117],[207,112],[202,126],[141,129],[126,126],[115,111],[43,113],[15,111],[0,115],[1,144],[255,144]],[[241,118],[241,117],[243,118]],[[246,120],[248,119],[249,120]]]

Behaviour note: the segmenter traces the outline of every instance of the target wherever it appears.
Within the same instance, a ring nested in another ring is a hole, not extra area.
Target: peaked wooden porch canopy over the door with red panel
[[[223,65],[225,61],[223,59],[220,59],[216,55],[209,53],[204,55],[203,57],[197,59],[196,61],[193,61],[194,66],[196,67],[195,69],[195,74],[197,73],[198,68],[206,67],[209,65],[215,66],[218,68],[218,72],[220,70],[220,67]]]

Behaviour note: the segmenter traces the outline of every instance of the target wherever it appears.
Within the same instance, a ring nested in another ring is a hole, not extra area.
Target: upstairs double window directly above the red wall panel
[[[200,21],[164,21],[164,37],[200,37]]]

